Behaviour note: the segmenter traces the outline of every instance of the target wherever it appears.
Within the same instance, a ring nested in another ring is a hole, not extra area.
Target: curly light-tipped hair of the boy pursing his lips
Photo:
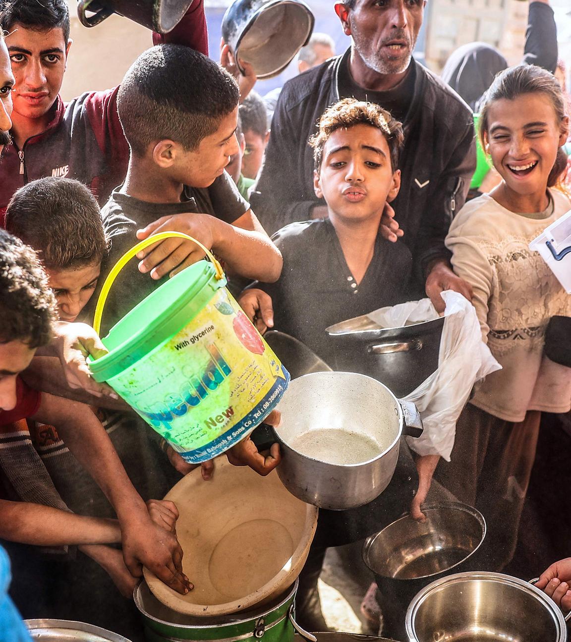
[[[392,171],[396,171],[405,139],[403,126],[379,105],[355,98],[344,98],[335,105],[331,105],[319,119],[319,130],[309,141],[310,146],[313,147],[315,169],[319,171],[321,168],[323,148],[329,136],[338,129],[348,129],[355,125],[371,125],[382,132],[391,152]]]

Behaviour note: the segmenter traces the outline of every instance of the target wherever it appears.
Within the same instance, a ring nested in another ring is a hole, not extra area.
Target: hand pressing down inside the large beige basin
[[[160,508],[155,505],[158,512],[154,511],[154,519],[168,524],[169,518],[163,509],[173,513],[169,504],[174,507],[171,502],[166,505],[163,502]],[[141,577],[146,566],[161,582],[186,595],[194,586],[182,572],[183,553],[177,536],[154,519],[147,510],[145,514],[137,510],[136,516],[121,523],[125,566],[133,577]]]

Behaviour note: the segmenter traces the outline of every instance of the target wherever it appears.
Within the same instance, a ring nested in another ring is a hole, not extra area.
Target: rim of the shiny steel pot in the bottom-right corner
[[[423,589],[421,589],[421,591],[419,591],[414,596],[414,598],[412,598],[412,602],[410,602],[410,604],[408,605],[407,616],[405,619],[405,627],[408,639],[410,639],[411,641],[417,639],[416,632],[413,628],[413,621],[416,616],[416,612],[418,611],[420,605],[425,601],[426,597],[428,597],[429,594],[434,593],[434,591],[437,591],[444,584],[456,584],[458,582],[465,582],[466,580],[493,580],[495,582],[498,582],[499,584],[516,586],[519,589],[523,589],[523,591],[527,591],[529,594],[534,595],[537,600],[542,602],[545,607],[547,607],[549,611],[554,615],[559,627],[558,636],[567,632],[567,625],[565,623],[565,618],[563,617],[561,609],[559,609],[558,605],[556,605],[556,603],[547,595],[547,593],[543,593],[543,591],[540,591],[540,589],[536,588],[533,584],[530,584],[530,582],[525,582],[525,580],[520,580],[520,578],[518,577],[505,575],[504,573],[466,571],[465,573],[447,575],[446,577],[440,578],[439,580],[435,580],[431,584],[428,584],[428,586],[425,586]],[[561,642],[563,639],[567,638],[559,638],[557,642]]]

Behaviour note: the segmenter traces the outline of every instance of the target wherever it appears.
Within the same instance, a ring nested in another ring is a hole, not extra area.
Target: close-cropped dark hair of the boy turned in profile
[[[143,51],[117,96],[119,118],[132,152],[145,155],[164,139],[195,150],[238,107],[234,78],[216,62],[181,45]]]

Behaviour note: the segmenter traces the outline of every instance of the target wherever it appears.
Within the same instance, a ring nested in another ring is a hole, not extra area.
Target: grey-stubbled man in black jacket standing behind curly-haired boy
[[[287,82],[276,106],[265,162],[250,203],[268,232],[326,216],[313,192],[310,135],[326,107],[355,97],[389,110],[404,126],[401,191],[385,209],[382,233],[402,236],[414,259],[403,297],[422,297],[439,310],[442,290],[471,298],[452,272],[444,237],[461,209],[476,166],[473,117],[462,99],[412,58],[425,0],[345,0],[335,4],[353,38],[340,56]],[[396,214],[395,214],[396,213]],[[394,217],[394,218],[393,218]],[[382,284],[380,284],[382,287]]]

